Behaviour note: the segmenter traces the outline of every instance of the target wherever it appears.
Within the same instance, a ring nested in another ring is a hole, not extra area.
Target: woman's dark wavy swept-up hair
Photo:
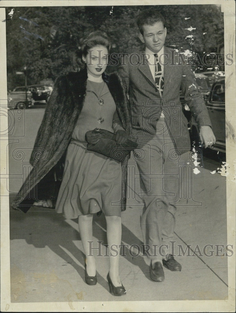
[[[79,64],[80,68],[85,67],[82,56],[86,57],[86,55],[88,54],[88,50],[92,49],[95,46],[104,46],[107,48],[109,53],[111,43],[105,32],[96,30],[90,33],[88,36],[80,39],[79,49],[76,51],[77,63]]]

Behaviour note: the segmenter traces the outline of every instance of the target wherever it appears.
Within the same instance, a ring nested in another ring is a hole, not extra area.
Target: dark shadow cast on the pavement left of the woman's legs
[[[55,254],[64,259],[66,264],[72,265],[85,282],[84,267],[74,261],[76,259],[81,264],[85,264],[85,254],[73,242],[74,240],[81,240],[79,232],[75,231],[64,221],[63,216],[57,214],[54,210],[52,210],[52,213],[48,209],[47,212],[43,210],[44,208],[42,208],[42,212],[28,211],[26,214],[11,211],[10,240],[24,239],[27,244],[31,244],[35,248],[48,246]],[[27,256],[21,262],[27,262]],[[107,281],[102,276],[99,279],[99,284],[109,291]]]

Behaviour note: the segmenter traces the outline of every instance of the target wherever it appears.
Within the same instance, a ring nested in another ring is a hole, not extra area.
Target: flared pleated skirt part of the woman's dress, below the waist
[[[67,149],[56,212],[71,219],[99,211],[107,216],[121,216],[120,200],[120,163],[72,141]]]

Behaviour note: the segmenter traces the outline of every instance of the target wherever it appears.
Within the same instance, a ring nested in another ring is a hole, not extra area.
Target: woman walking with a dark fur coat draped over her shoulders
[[[101,135],[94,131],[96,128],[115,132],[118,143],[127,139],[124,128],[128,131],[129,118],[125,95],[117,78],[114,76],[112,81],[111,76],[109,80],[104,73],[109,49],[105,33],[90,33],[81,44],[84,69],[56,80],[36,138],[36,151],[31,156],[37,175],[33,169],[13,203],[14,208],[27,211],[20,203],[27,204],[32,188],[55,166],[67,148],[56,211],[65,218],[78,217],[86,256],[85,280],[89,285],[97,282],[95,258],[89,256],[88,243],[92,241],[94,213],[101,210],[105,214],[109,254],[112,244],[119,246],[121,243],[121,206],[111,206],[121,199],[121,165],[86,148],[87,143],[99,141]],[[124,190],[123,185],[123,193]],[[107,280],[110,293],[123,295],[126,290],[119,278],[119,249],[117,252],[117,256],[110,256]]]

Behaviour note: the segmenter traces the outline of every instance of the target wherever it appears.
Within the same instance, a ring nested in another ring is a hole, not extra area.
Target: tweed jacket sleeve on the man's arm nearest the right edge
[[[198,90],[198,85],[195,75],[190,65],[182,65],[182,83],[181,90],[184,99],[192,112],[193,117],[196,119],[198,126],[208,125],[211,126],[208,110],[203,100],[201,92]]]

